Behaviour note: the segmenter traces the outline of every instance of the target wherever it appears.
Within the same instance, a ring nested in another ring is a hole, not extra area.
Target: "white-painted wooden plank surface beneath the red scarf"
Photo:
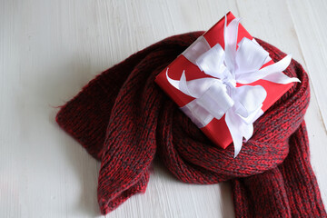
[[[229,10],[310,74],[305,119],[327,205],[327,1],[0,0],[0,217],[100,216],[99,163],[54,123],[55,106],[129,54]],[[156,163],[146,193],[107,217],[233,217],[231,190],[180,183]]]

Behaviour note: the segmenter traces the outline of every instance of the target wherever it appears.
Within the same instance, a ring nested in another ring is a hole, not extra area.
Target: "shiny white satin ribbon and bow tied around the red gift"
[[[236,83],[251,84],[260,79],[277,84],[300,82],[298,78],[282,73],[291,63],[291,55],[260,69],[271,58],[254,39],[243,37],[236,49],[239,22],[240,19],[235,18],[227,25],[225,16],[225,50],[219,44],[211,48],[200,36],[183,52],[189,61],[212,77],[186,81],[183,71],[180,80],[173,80],[168,76],[168,68],[166,70],[167,80],[173,87],[195,98],[181,109],[199,128],[209,124],[213,118],[221,119],[225,114],[225,122],[233,138],[234,157],[241,151],[243,138],[246,142],[253,135],[253,122],[263,114],[261,108],[267,95],[261,85],[236,87]]]

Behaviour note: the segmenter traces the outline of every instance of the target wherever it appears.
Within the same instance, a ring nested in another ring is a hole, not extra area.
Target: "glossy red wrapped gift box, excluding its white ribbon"
[[[227,25],[235,18],[234,15],[229,12],[226,15]],[[208,42],[208,44],[213,47],[214,45],[221,45],[224,49],[224,39],[223,39],[223,28],[224,28],[225,18],[223,17],[218,23],[213,25],[213,27],[203,34],[203,37]],[[237,44],[241,42],[243,37],[246,37],[250,40],[253,40],[253,36],[250,35],[243,27],[243,25],[239,25],[238,27],[238,37]],[[273,64],[274,62],[271,60],[264,66]],[[190,62],[183,54],[179,55],[172,64],[167,66],[169,68],[169,77],[172,79],[178,80],[181,78],[183,71],[187,72],[187,80],[199,79],[203,77],[208,77],[208,74],[204,74],[203,71],[199,69],[196,64]],[[158,74],[155,78],[155,83],[159,84],[163,91],[168,94],[173,101],[178,104],[178,106],[183,107],[185,104],[193,101],[193,97],[183,94],[183,92],[179,91],[172,84],[170,84],[166,78],[166,70],[163,69],[163,72]],[[286,93],[291,87],[290,84],[275,84],[266,80],[258,80],[251,84],[247,85],[256,85],[260,84],[265,89],[267,96],[263,101],[262,110],[265,112],[273,103],[275,103],[282,94]],[[236,84],[236,87],[242,86],[243,84]],[[233,143],[232,135],[227,127],[227,124],[224,120],[225,115],[220,120],[213,119],[209,124],[206,124],[201,128],[203,133],[209,137],[214,144],[218,144],[222,148],[226,148],[229,144]]]

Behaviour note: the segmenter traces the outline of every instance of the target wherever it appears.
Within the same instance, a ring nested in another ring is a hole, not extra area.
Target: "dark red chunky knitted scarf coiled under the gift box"
[[[203,32],[174,35],[98,75],[56,116],[57,123],[101,161],[103,214],[144,193],[154,155],[184,183],[231,181],[236,217],[326,217],[312,171],[303,116],[308,75],[292,60],[296,83],[254,123],[252,138],[233,158],[233,145],[214,145],[154,78]],[[256,39],[272,60],[285,55]],[[219,134],[219,130],[217,130]]]

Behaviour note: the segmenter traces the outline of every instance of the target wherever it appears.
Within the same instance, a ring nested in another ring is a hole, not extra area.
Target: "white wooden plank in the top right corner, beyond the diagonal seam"
[[[322,120],[327,127],[327,2],[318,1],[288,1],[292,20],[299,37],[305,63],[312,79],[318,104],[322,112]]]

